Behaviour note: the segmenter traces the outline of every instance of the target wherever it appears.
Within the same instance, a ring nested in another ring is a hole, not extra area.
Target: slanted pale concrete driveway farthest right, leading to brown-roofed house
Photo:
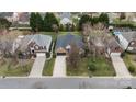
[[[132,77],[128,72],[120,53],[112,53],[111,58],[117,77]]]

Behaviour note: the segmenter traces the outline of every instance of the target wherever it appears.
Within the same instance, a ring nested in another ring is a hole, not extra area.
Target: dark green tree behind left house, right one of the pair
[[[56,16],[53,13],[46,13],[44,18],[44,31],[47,31],[47,32],[54,31],[53,30],[54,24],[59,26],[58,20],[56,19]]]

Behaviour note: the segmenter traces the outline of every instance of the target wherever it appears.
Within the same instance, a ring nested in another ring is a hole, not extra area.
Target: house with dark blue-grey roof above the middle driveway
[[[56,55],[66,55],[71,48],[71,44],[76,44],[77,47],[82,50],[83,42],[82,37],[73,34],[59,35],[56,42]]]

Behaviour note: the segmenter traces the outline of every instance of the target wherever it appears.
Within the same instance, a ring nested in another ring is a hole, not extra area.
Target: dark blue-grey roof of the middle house
[[[82,37],[73,34],[59,35],[56,42],[56,50],[58,48],[66,48],[67,45],[75,43],[79,48],[83,47]]]

